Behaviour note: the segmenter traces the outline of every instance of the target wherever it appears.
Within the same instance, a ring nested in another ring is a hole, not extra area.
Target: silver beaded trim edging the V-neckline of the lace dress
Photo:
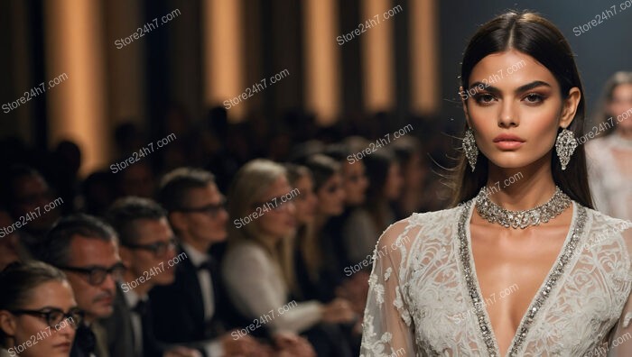
[[[458,225],[458,235],[459,235],[459,257],[460,262],[463,267],[463,274],[465,276],[465,281],[467,284],[469,297],[472,300],[472,304],[474,305],[474,311],[476,313],[477,319],[479,321],[480,332],[483,336],[483,341],[488,349],[488,354],[491,357],[497,357],[499,354],[497,341],[492,333],[491,325],[486,317],[485,304],[480,297],[479,288],[477,287],[477,282],[474,279],[474,272],[472,270],[472,262],[469,258],[469,242],[466,234],[466,226],[469,222],[469,209],[473,204],[473,200],[470,200],[463,206],[463,211],[460,216],[459,225]],[[584,231],[584,224],[586,222],[586,209],[583,206],[578,204],[575,205],[577,207],[577,216],[574,222],[574,226],[572,227],[572,236],[571,239],[565,243],[562,248],[562,253],[558,256],[555,261],[554,269],[549,271],[545,279],[544,285],[538,290],[534,300],[532,300],[531,305],[527,309],[527,313],[523,316],[520,325],[516,330],[516,334],[511,342],[509,347],[508,356],[517,356],[518,351],[525,343],[526,334],[529,332],[529,328],[534,322],[535,316],[537,315],[540,308],[544,306],[544,302],[549,297],[550,292],[555,288],[556,282],[564,272],[564,268],[566,264],[571,261],[572,255],[575,252],[575,248],[578,246],[578,241],[580,240],[581,235]],[[567,236],[568,238],[568,236]]]

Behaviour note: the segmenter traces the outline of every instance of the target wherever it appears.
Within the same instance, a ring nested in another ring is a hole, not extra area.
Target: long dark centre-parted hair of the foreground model
[[[461,86],[464,89],[469,87],[469,75],[481,59],[489,54],[511,49],[533,57],[549,69],[560,84],[562,98],[568,97],[572,87],[580,89],[581,100],[567,129],[572,131],[576,138],[581,137],[585,113],[584,90],[571,46],[553,23],[538,14],[509,12],[482,25],[469,40],[463,53],[460,68]],[[558,132],[560,131],[561,129],[558,129]],[[583,206],[593,207],[583,145],[575,150],[565,171],[562,171],[557,153],[553,151],[551,170],[553,181],[564,193]],[[459,164],[455,168],[456,188],[452,205],[456,206],[475,197],[487,179],[488,159],[484,155],[479,155],[476,169],[471,172],[465,154],[461,153]]]

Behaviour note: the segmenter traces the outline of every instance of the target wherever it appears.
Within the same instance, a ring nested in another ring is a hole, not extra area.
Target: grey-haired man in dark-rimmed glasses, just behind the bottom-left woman
[[[112,314],[116,281],[125,272],[117,245],[109,224],[82,214],[61,218],[43,242],[40,259],[66,273],[85,314],[70,357],[108,356],[105,331],[97,320]]]

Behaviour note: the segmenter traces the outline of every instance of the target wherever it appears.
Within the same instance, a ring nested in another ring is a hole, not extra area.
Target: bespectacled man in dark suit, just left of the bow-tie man
[[[200,356],[184,347],[168,347],[153,335],[147,293],[156,285],[171,284],[175,265],[186,255],[175,255],[175,240],[163,207],[150,199],[125,197],[107,212],[120,241],[125,263],[123,280],[116,288],[114,313],[101,322],[107,331],[111,356]]]

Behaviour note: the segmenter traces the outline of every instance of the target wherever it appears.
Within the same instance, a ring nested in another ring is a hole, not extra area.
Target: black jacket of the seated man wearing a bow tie
[[[179,248],[180,254],[184,252]],[[251,324],[230,304],[223,288],[217,262],[212,259],[210,277],[213,282],[214,315],[204,320],[204,302],[198,280],[198,269],[185,259],[175,267],[172,285],[156,286],[149,292],[153,331],[163,343],[179,343],[205,353],[202,343],[218,338],[237,326]],[[261,334],[261,333],[259,333]]]

